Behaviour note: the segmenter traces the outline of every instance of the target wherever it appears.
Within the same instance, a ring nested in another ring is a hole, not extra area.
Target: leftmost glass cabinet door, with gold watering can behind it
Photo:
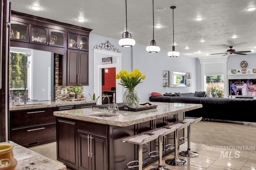
[[[14,41],[29,42],[29,24],[11,21],[10,39]]]

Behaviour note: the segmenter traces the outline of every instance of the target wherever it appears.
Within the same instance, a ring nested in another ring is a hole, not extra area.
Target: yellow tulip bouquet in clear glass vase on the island
[[[124,105],[131,108],[138,107],[140,96],[135,89],[135,86],[142,83],[141,79],[144,80],[145,78],[146,76],[142,75],[138,69],[135,69],[130,73],[127,70],[121,70],[116,74],[116,79],[120,79],[120,83],[118,84],[127,88],[123,96]]]

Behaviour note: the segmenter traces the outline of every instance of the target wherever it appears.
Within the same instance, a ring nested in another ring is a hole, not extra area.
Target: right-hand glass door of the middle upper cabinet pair
[[[49,29],[49,45],[64,47],[64,31]]]

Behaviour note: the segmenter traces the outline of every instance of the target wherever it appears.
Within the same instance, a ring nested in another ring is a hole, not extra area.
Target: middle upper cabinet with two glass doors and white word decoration
[[[30,43],[64,47],[65,32],[31,25]]]

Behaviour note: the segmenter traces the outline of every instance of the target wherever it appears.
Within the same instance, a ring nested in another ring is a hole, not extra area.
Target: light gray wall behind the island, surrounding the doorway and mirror
[[[121,34],[120,34],[121,38]],[[146,51],[145,45],[136,43],[132,48],[124,48],[118,45],[119,39],[112,39],[101,35],[90,33],[89,38],[89,86],[84,86],[86,97],[90,98],[90,94],[93,93],[93,48],[101,43],[109,41],[115,48],[119,49],[122,53],[122,70],[128,72],[137,68],[146,75],[143,83],[136,86],[137,91],[140,94],[140,101],[149,101],[149,97],[152,92],[175,93],[175,92],[195,92],[197,87],[197,73],[196,63],[197,59],[180,55],[177,58],[171,58],[167,56],[168,51],[161,50],[159,53],[152,54]],[[150,40],[149,40],[150,43]],[[172,49],[170,45],[170,50]],[[103,49],[104,50],[104,49]],[[176,49],[178,51],[178,48]],[[191,72],[192,86],[190,87],[163,87],[163,70],[171,70],[178,72]],[[200,74],[199,74],[200,75]],[[199,83],[200,84],[200,83]],[[124,93],[122,87],[122,94]]]

